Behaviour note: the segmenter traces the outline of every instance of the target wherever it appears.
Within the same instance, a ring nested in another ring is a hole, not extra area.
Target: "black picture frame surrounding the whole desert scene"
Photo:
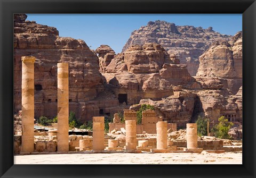
[[[255,61],[256,2],[252,0],[0,0],[1,177],[256,177]],[[243,164],[242,165],[14,165],[13,14],[14,13],[242,13]]]

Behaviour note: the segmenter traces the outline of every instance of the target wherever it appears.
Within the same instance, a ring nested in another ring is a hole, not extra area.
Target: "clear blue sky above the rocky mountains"
[[[213,27],[214,31],[235,35],[242,31],[242,14],[27,14],[36,21],[59,30],[59,36],[83,39],[91,48],[109,45],[122,51],[131,32],[149,21],[164,20],[177,26]]]

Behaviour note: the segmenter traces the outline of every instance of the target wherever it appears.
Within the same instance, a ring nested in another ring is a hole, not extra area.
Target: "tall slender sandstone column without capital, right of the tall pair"
[[[68,146],[68,63],[58,63],[58,151],[69,151]]]

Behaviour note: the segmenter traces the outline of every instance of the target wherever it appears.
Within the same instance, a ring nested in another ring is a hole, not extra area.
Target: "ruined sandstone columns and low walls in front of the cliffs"
[[[37,136],[34,133],[34,62],[35,57],[22,57],[22,136],[14,136],[14,153],[31,154],[35,152],[225,152],[223,141],[214,140],[198,144],[197,125],[187,124],[186,147],[177,147],[168,139],[167,130],[177,130],[175,124],[161,121],[155,111],[142,112],[142,124],[137,125],[137,113],[132,109],[124,111],[125,123],[121,123],[118,114],[114,115],[114,123],[110,128],[122,126],[125,133],[125,146],[118,139],[104,133],[104,117],[93,117],[93,135],[68,135],[68,64],[58,63],[58,130]],[[116,128],[115,128],[116,129]],[[156,138],[139,138],[139,133],[156,134]],[[146,133],[147,132],[147,133]],[[45,137],[45,138],[42,138]],[[106,147],[107,140],[107,147]],[[198,146],[202,146],[198,148]],[[205,145],[207,147],[205,147]],[[210,147],[213,145],[213,147]],[[21,148],[21,150],[20,150]]]

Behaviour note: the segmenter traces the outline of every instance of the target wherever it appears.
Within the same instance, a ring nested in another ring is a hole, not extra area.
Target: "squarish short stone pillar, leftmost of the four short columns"
[[[92,149],[94,151],[102,151],[105,149],[104,146],[104,117],[93,117],[92,118]]]

